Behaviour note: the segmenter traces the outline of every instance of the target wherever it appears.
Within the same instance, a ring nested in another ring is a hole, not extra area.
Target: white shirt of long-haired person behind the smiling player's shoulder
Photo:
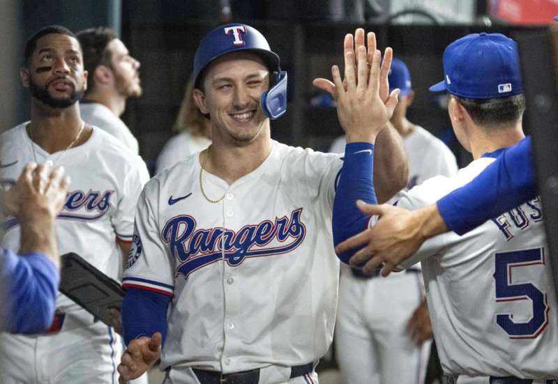
[[[163,169],[188,158],[193,153],[202,151],[211,144],[211,140],[204,136],[192,136],[189,132],[180,132],[171,137],[163,146],[157,158],[155,174]]]

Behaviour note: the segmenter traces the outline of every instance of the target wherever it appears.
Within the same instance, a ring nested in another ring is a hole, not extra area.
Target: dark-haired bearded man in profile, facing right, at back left
[[[80,31],[77,38],[83,49],[84,68],[89,73],[85,96],[80,101],[82,118],[109,132],[138,155],[137,139],[119,117],[128,98],[142,95],[140,61],[106,26]]]

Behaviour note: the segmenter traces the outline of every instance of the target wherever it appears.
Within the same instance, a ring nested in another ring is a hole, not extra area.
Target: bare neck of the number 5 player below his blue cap
[[[502,128],[476,128],[475,134],[469,137],[471,153],[474,160],[485,153],[494,152],[500,148],[508,148],[525,138],[522,122]]]

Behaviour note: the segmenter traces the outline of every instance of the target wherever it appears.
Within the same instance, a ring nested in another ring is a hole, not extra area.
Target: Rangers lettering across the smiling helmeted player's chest
[[[245,259],[286,254],[296,249],[306,236],[301,222],[302,208],[290,217],[276,217],[274,222],[243,226],[239,231],[222,228],[196,229],[190,215],[173,217],[165,224],[161,238],[176,259],[176,273],[185,278],[190,273],[222,259],[229,266],[239,266]]]

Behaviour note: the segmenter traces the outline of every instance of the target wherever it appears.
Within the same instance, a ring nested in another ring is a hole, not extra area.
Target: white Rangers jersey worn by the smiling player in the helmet
[[[315,372],[289,381],[289,367],[316,362],[333,337],[338,158],[273,141],[268,158],[232,185],[203,173],[208,197],[225,195],[219,203],[202,195],[198,153],[146,184],[123,285],[173,296],[165,383],[197,383],[190,367],[317,383]]]

